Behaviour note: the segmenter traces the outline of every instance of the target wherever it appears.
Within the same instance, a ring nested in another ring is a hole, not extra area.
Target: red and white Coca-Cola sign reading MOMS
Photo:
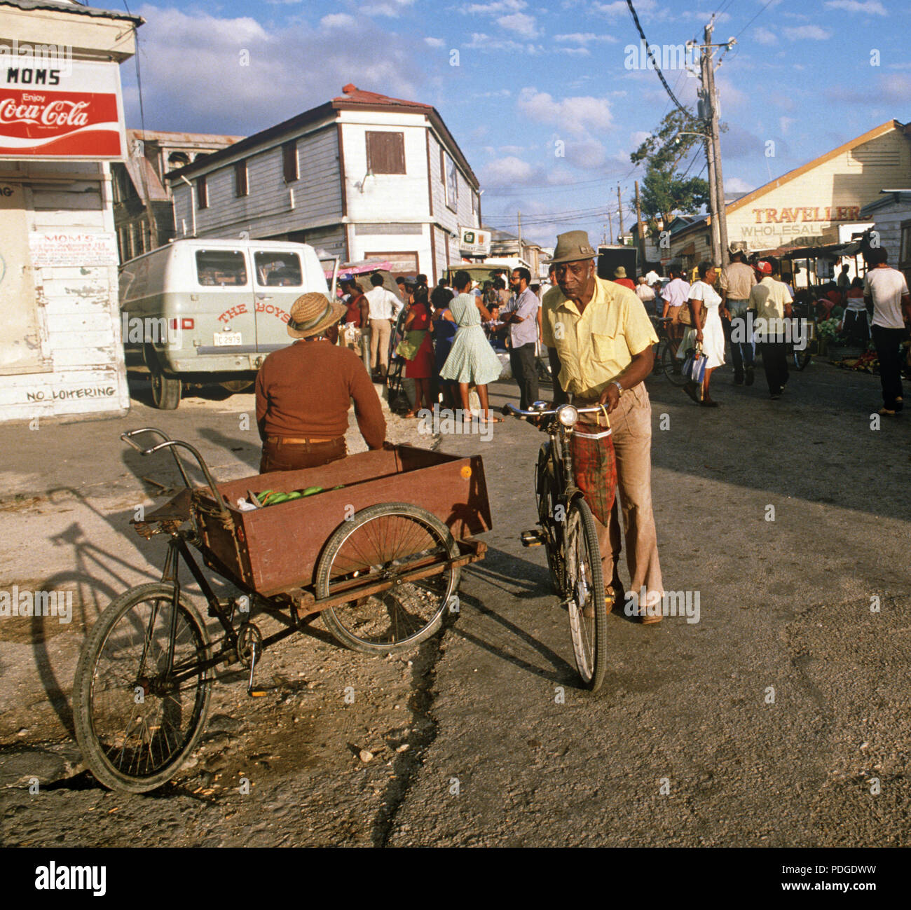
[[[124,158],[118,65],[59,63],[0,56],[0,158]]]

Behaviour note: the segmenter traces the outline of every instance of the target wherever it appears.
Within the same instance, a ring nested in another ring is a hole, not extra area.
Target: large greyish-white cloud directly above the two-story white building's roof
[[[322,26],[298,22],[267,30],[251,15],[221,18],[148,3],[136,12],[146,19],[140,42],[150,129],[250,135],[340,95],[353,73],[359,87],[426,100],[413,42],[370,20],[346,26],[348,40],[340,42],[338,16],[344,14],[330,14]],[[382,54],[375,52],[377,40]],[[249,54],[249,65],[241,51]],[[313,60],[320,66],[314,68]],[[132,67],[124,67],[122,77],[126,86],[135,85]],[[289,84],[302,89],[289,92]],[[138,120],[131,100],[128,125]]]

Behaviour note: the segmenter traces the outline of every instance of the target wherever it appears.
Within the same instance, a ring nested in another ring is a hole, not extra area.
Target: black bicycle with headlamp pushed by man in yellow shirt
[[[607,666],[608,609],[598,531],[576,486],[568,443],[579,414],[599,413],[599,407],[574,404],[548,410],[544,402],[535,402],[529,411],[512,404],[503,408],[507,416],[537,421],[538,429],[549,436],[541,445],[535,467],[537,528],[524,531],[520,539],[523,547],[545,548],[551,584],[568,609],[578,674],[592,691],[599,689]]]

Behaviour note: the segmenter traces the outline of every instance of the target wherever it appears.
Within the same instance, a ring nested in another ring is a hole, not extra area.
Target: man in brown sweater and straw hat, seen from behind
[[[386,421],[374,384],[361,358],[336,344],[345,312],[343,303],[330,302],[321,293],[294,301],[288,334],[297,341],[273,351],[256,377],[260,474],[343,458],[352,399],[368,448],[383,447]]]

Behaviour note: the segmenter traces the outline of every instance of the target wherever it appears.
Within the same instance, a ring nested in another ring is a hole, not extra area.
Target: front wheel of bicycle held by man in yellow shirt
[[[582,684],[597,691],[604,681],[608,650],[608,608],[598,531],[582,498],[569,506],[566,521],[569,632]]]

